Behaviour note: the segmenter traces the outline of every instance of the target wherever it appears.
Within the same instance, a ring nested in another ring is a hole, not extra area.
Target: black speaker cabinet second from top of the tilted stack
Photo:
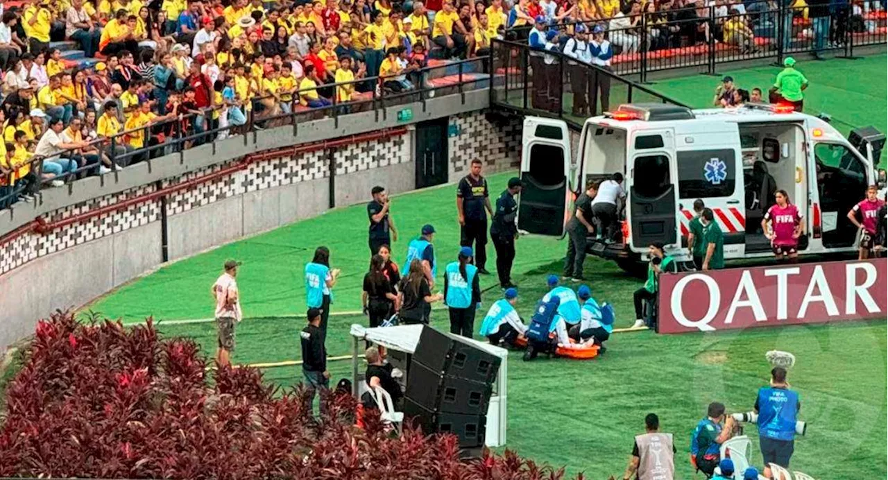
[[[427,410],[445,413],[484,414],[488,411],[489,383],[441,374],[413,358],[404,395]]]

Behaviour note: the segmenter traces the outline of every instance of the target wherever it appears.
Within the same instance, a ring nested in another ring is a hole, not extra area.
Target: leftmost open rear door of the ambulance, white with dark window
[[[570,215],[570,132],[567,123],[526,117],[521,136],[519,230],[561,236]]]

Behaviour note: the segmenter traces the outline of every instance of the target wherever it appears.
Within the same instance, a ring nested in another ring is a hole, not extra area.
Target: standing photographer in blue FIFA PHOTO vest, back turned
[[[789,468],[789,459],[795,447],[797,414],[802,404],[798,393],[789,390],[786,369],[775,366],[771,370],[771,385],[758,390],[758,442],[765,458],[765,476],[771,478],[769,464]]]

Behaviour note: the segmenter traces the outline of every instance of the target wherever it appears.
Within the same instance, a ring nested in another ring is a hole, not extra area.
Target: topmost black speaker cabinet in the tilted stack
[[[493,383],[501,359],[465,339],[424,327],[412,361],[451,377],[473,382]]]

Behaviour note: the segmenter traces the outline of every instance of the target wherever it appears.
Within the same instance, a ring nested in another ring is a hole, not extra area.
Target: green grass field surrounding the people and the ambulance
[[[861,87],[867,83],[864,79],[878,78],[879,71],[888,71],[888,56],[818,63],[800,59],[799,65],[812,80],[806,111],[825,110],[844,122],[875,124],[888,130],[888,121],[881,114],[888,106],[885,98],[878,95],[875,83]],[[776,68],[727,73],[743,87],[765,87]],[[654,87],[704,106],[715,84],[712,77],[698,75]],[[501,191],[510,176],[490,177],[492,193]],[[402,237],[394,247],[399,263],[406,240],[426,222],[438,229],[435,243],[440,262],[455,256],[458,228],[453,198],[452,186],[445,186],[393,200],[392,211]],[[313,248],[323,244],[332,251],[332,265],[344,272],[335,289],[334,305],[334,312],[342,314],[330,319],[328,350],[331,356],[348,354],[349,326],[366,323],[361,315],[349,313],[360,307],[360,281],[367,264],[365,215],[362,205],[336,209],[234,242],[165,266],[89,308],[127,322],[154,315],[163,334],[193,337],[211,355],[215,348],[212,323],[175,324],[169,320],[210,317],[210,284],[223,261],[235,257],[244,262],[238,280],[249,318],[238,327],[234,361],[252,364],[295,359],[299,356],[297,331],[304,325],[298,317],[305,310],[301,271]],[[492,256],[492,247],[488,250]],[[560,271],[563,252],[564,243],[559,240],[519,240],[514,279],[519,284],[519,311],[527,312],[545,293],[545,276]],[[491,261],[488,268],[492,266]],[[631,295],[640,281],[595,258],[587,259],[586,276],[591,279],[593,295],[614,304],[617,327],[629,326],[634,317]],[[494,277],[484,278],[482,287],[495,283]],[[498,288],[489,290],[484,303],[489,305],[497,295]],[[432,325],[446,329],[446,313],[433,313]],[[645,414],[655,412],[661,417],[662,428],[675,434],[677,477],[694,478],[686,460],[689,436],[706,405],[718,400],[731,412],[751,409],[758,387],[767,382],[770,367],[765,351],[779,349],[797,356],[789,380],[802,397],[801,418],[810,425],[808,435],[797,440],[792,469],[831,480],[884,478],[888,472],[881,448],[888,429],[886,322],[672,336],[622,333],[614,334],[607,346],[606,355],[591,361],[541,358],[525,363],[519,353],[511,353],[509,448],[538,461],[566,466],[569,473],[585,471],[592,479],[619,478],[632,437],[643,430]],[[349,362],[331,365],[334,379],[350,375]],[[291,386],[301,378],[297,368],[268,368],[266,378]],[[747,432],[757,438],[754,426]],[[760,466],[757,441],[754,445],[754,464]]]

